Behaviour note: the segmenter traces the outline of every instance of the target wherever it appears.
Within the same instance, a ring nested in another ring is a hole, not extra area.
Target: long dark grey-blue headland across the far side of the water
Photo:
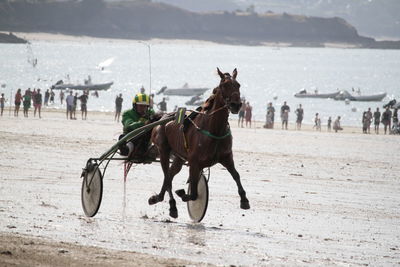
[[[256,45],[284,42],[298,46],[347,43],[399,48],[360,36],[345,20],[287,13],[196,13],[151,1],[3,1],[0,30],[50,32],[127,39],[195,39]]]

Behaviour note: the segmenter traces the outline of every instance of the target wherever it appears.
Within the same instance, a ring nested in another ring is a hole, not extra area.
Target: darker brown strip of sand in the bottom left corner
[[[190,261],[0,233],[1,266],[193,266]],[[198,264],[212,266],[210,264]]]

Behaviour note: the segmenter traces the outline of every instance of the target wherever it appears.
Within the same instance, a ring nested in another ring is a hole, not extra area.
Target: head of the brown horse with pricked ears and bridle
[[[221,77],[218,87],[220,88],[225,105],[233,114],[237,114],[242,106],[239,90],[240,84],[236,81],[237,70],[234,69],[232,75],[229,73],[222,73],[219,68],[217,68],[217,71],[219,77]]]

